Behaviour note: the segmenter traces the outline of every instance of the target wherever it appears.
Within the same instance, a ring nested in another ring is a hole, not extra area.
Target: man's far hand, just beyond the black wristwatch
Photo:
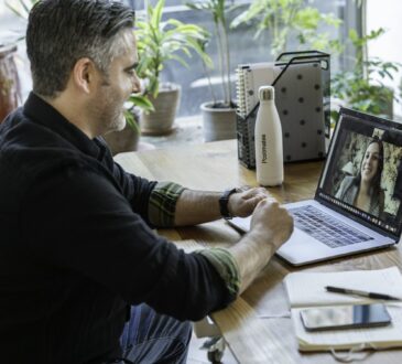
[[[229,197],[229,213],[231,216],[250,216],[258,203],[270,195],[264,188],[253,188],[233,193]]]

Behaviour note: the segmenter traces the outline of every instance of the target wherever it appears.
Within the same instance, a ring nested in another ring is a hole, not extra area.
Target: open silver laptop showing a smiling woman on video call
[[[401,160],[402,125],[341,108],[314,200],[284,205],[294,232],[276,254],[302,266],[398,244]],[[250,220],[228,222],[248,232]]]

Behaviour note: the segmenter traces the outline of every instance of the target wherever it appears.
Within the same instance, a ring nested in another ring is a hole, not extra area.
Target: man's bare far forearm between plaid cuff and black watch
[[[197,225],[220,218],[220,192],[183,191],[176,203],[175,225]]]

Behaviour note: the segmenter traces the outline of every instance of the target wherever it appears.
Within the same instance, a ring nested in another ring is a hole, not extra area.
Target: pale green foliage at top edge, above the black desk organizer
[[[320,13],[312,6],[306,7],[304,0],[254,0],[233,19],[230,26],[250,22],[257,28],[254,38],[260,36],[264,30],[271,32],[271,54],[274,56],[287,51],[289,39],[294,34],[303,46],[328,52],[340,51],[339,41],[330,39],[326,32],[318,32],[318,28],[320,24],[337,28],[341,20],[332,13]]]

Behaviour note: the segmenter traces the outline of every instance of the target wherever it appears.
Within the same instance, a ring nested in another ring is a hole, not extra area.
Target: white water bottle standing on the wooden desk
[[[256,170],[260,185],[280,185],[283,182],[282,125],[275,106],[275,89],[261,86],[260,107],[256,119]]]

